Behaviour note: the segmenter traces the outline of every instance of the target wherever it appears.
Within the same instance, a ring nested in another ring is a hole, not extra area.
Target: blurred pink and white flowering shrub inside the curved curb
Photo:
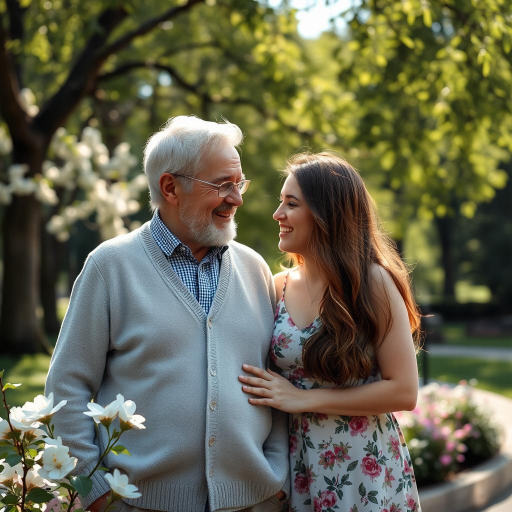
[[[418,485],[440,482],[499,450],[499,431],[472,400],[473,387],[431,383],[414,411],[396,413]]]

